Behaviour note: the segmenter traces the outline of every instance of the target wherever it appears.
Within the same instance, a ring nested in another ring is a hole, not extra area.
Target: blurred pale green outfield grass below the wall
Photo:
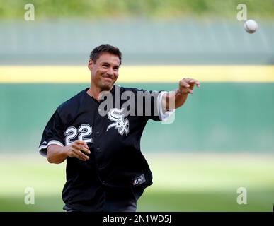
[[[146,154],[154,184],[139,199],[138,211],[273,211],[274,156],[250,154]],[[0,211],[62,211],[65,164],[39,155],[1,155]],[[35,204],[25,205],[25,187]],[[239,187],[247,204],[239,205]]]

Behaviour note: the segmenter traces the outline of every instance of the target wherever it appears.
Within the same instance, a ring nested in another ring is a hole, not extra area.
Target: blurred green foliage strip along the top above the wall
[[[247,4],[253,16],[273,18],[272,0],[10,0],[0,1],[1,18],[21,18],[22,6],[35,4],[38,18],[146,18],[234,17],[238,4]]]

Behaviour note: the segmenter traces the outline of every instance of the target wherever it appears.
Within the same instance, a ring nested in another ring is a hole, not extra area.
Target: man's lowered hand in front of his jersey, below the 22
[[[87,156],[85,154],[90,154],[91,151],[89,150],[89,147],[85,141],[77,140],[77,141],[74,141],[73,143],[65,146],[64,148],[66,148],[66,150],[67,150],[68,157],[76,157],[82,161],[89,160],[89,156]]]

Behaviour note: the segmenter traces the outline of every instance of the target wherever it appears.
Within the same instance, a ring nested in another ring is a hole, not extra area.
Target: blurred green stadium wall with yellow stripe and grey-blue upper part
[[[273,19],[259,17],[258,31],[249,35],[233,7],[233,19],[42,20],[38,10],[35,21],[23,20],[23,13],[20,19],[20,11],[11,14],[16,20],[3,16],[0,153],[38,149],[56,107],[89,86],[86,64],[99,44],[123,53],[119,85],[173,90],[183,77],[201,82],[173,124],[149,122],[142,150],[273,151]]]

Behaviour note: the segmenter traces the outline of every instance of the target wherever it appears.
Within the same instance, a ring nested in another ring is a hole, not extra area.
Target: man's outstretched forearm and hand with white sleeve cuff
[[[193,93],[194,86],[200,87],[200,83],[193,78],[183,78],[179,81],[178,88],[172,92],[165,93],[162,98],[162,107],[167,111],[181,107],[185,100],[188,98],[188,94]],[[172,104],[173,103],[173,104]]]

